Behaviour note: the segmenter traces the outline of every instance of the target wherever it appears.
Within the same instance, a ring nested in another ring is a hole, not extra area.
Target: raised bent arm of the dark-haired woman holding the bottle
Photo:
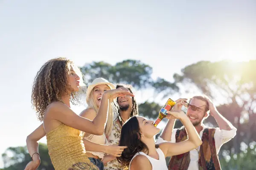
[[[202,144],[202,141],[195,130],[195,127],[192,125],[189,118],[183,111],[169,111],[168,114],[175,116],[177,119],[183,123],[188,134],[188,139],[183,142],[171,143],[163,142],[159,145],[160,149],[163,150],[165,156],[174,156],[182,153],[186,153]],[[169,117],[169,116],[168,116]]]

